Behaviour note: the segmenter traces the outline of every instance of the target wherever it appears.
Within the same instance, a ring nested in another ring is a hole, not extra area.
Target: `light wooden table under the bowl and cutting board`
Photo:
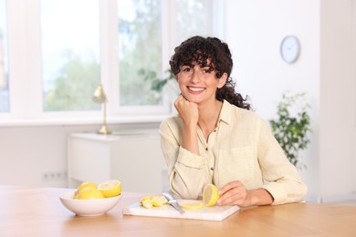
[[[222,222],[122,215],[145,194],[123,192],[107,214],[79,217],[66,189],[0,186],[0,236],[356,236],[356,206],[292,203],[242,209]]]

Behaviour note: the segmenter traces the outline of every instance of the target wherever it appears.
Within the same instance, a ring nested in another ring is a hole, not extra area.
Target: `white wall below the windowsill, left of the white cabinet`
[[[0,127],[0,185],[67,186],[67,137],[95,132],[98,125]],[[150,125],[110,125],[112,130],[158,128]]]

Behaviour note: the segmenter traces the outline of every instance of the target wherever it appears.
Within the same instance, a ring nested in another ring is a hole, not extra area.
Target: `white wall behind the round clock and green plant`
[[[308,92],[313,133],[302,154],[307,169],[300,173],[309,186],[309,201],[348,199],[356,190],[351,2],[225,1],[225,41],[233,51],[233,77],[257,113],[273,118],[281,93]],[[292,65],[279,55],[287,35],[298,36],[301,44],[300,57]]]

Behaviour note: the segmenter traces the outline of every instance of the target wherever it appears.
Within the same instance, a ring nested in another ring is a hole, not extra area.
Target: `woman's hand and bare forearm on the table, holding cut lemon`
[[[237,205],[248,207],[253,205],[268,205],[273,202],[272,195],[265,189],[246,190],[241,181],[227,183],[219,190],[218,205]]]

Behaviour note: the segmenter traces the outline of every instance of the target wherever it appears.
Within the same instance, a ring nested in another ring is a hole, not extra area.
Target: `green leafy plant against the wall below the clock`
[[[298,168],[305,167],[299,162],[299,152],[309,145],[310,117],[306,93],[291,95],[284,93],[277,104],[277,118],[269,120],[272,133],[286,152],[288,160]]]

